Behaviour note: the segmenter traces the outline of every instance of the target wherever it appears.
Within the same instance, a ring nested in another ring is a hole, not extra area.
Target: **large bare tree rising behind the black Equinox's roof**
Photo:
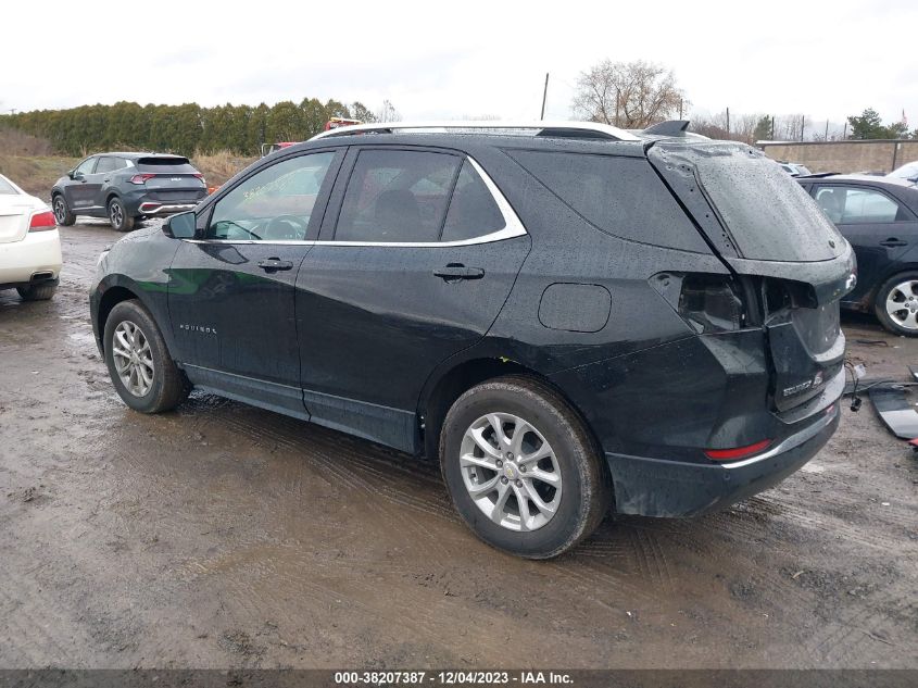
[[[583,120],[644,128],[676,117],[686,104],[671,70],[643,60],[603,60],[580,73],[571,108]]]

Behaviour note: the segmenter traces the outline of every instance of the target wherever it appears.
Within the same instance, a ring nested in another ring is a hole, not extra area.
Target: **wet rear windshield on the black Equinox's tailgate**
[[[825,261],[844,251],[809,195],[760,151],[714,143],[684,152],[742,258]]]

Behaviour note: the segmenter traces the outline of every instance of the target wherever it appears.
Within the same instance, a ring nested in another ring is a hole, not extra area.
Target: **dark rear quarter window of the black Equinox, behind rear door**
[[[643,158],[507,150],[511,158],[590,224],[630,241],[709,252]]]

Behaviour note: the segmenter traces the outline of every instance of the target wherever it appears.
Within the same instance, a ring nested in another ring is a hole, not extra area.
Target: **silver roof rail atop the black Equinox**
[[[506,130],[535,130],[536,136],[557,136],[566,138],[602,138],[613,141],[638,141],[639,137],[608,124],[598,122],[566,121],[505,121],[475,120],[471,122],[377,122],[375,124],[355,124],[329,129],[316,134],[310,140],[351,134],[433,134],[450,130],[474,130],[482,134],[504,134]]]

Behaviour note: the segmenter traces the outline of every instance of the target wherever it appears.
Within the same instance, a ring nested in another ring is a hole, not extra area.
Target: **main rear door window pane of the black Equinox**
[[[449,153],[363,150],[344,191],[336,241],[438,241],[462,160]]]

